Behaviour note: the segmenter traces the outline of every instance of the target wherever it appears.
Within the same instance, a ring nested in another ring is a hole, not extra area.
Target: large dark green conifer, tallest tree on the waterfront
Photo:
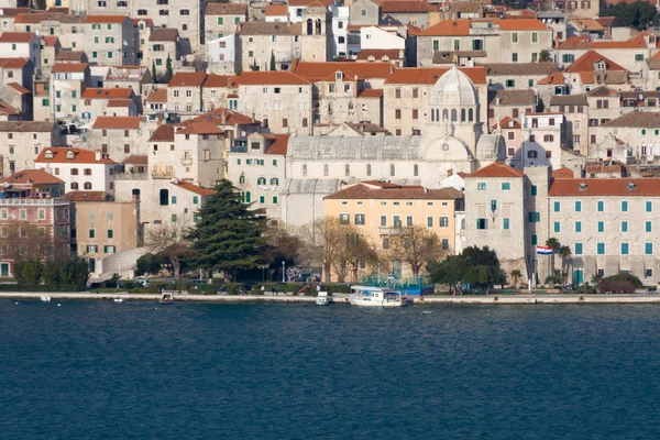
[[[188,233],[196,251],[191,264],[207,271],[222,271],[233,278],[238,271],[262,262],[261,249],[266,219],[258,210],[239,201],[238,189],[222,179],[198,212],[199,221]]]

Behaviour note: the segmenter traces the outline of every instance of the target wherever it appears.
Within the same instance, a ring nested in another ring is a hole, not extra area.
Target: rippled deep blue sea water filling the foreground
[[[660,438],[660,307],[0,301],[0,438]]]

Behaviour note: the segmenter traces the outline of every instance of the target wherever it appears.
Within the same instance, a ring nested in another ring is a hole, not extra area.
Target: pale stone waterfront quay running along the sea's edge
[[[174,294],[177,301],[188,302],[283,302],[283,304],[314,304],[312,296],[298,296],[292,294],[272,295],[189,295]],[[0,299],[38,300],[42,296],[50,296],[52,300],[114,300],[125,301],[157,301],[157,294],[129,294],[118,293],[0,293]],[[334,295],[336,304],[348,304],[345,294]],[[535,305],[535,304],[660,304],[660,295],[632,294],[632,295],[432,295],[415,298],[417,305]]]

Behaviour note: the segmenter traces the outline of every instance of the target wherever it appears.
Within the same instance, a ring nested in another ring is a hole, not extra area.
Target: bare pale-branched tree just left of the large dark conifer
[[[174,277],[178,278],[182,271],[183,260],[193,254],[186,233],[189,221],[184,217],[177,222],[154,224],[144,240],[144,245],[150,252],[161,253],[172,264]]]

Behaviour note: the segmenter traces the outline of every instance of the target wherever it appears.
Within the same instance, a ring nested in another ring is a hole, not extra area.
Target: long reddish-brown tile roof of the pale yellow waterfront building
[[[364,182],[323,197],[323,200],[375,199],[375,200],[452,200],[461,199],[463,194],[455,188],[426,189],[419,185],[383,185],[378,182]]]

